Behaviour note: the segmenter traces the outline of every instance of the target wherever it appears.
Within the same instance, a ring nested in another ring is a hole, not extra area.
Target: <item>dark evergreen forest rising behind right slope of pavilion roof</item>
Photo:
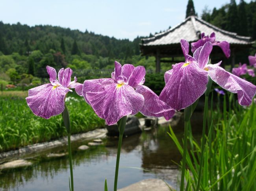
[[[213,10],[203,10],[202,19],[226,31],[236,32],[238,35],[251,36],[256,39],[256,1],[246,3],[240,0],[230,0],[230,4]]]

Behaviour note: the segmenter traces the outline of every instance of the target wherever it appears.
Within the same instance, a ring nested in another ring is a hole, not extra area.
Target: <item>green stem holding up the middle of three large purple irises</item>
[[[118,122],[118,129],[119,129],[119,140],[118,140],[118,149],[117,149],[117,162],[115,165],[115,182],[114,182],[114,191],[117,191],[117,178],[118,178],[118,170],[119,170],[119,160],[120,160],[120,153],[121,153],[121,145],[122,145],[122,136],[124,135],[124,128],[126,125],[126,118],[127,116],[123,116]]]

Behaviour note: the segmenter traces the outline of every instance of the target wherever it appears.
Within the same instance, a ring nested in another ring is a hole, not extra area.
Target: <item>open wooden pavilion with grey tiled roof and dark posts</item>
[[[215,32],[216,40],[226,40],[230,43],[231,56],[228,60],[231,62],[231,67],[234,67],[236,62],[236,54],[249,49],[253,42],[251,37],[239,36],[237,33],[224,31],[219,27],[216,27],[197,16],[189,16],[182,23],[175,27],[168,29],[167,31],[157,33],[153,37],[143,38],[141,40],[140,49],[143,56],[155,56],[156,57],[156,72],[161,70],[160,62],[178,63],[184,62],[184,60],[175,60],[174,58],[183,57],[182,50],[180,48],[180,39],[186,39],[189,44],[200,39],[201,33],[210,35]],[[191,50],[190,50],[191,51]],[[214,58],[221,60],[227,60],[221,51],[220,47],[214,46],[211,59],[214,63]],[[172,58],[166,60],[162,58]]]

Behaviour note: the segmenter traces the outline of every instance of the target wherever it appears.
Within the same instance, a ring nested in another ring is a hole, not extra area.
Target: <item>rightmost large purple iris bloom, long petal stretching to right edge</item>
[[[173,69],[165,72],[165,87],[160,94],[160,100],[173,109],[184,109],[193,104],[206,91],[208,75],[223,89],[237,93],[238,102],[248,106],[256,93],[256,86],[231,73],[217,64],[208,64],[212,50],[211,42],[199,47],[193,57],[187,55],[189,43],[180,40],[185,62],[173,65]]]

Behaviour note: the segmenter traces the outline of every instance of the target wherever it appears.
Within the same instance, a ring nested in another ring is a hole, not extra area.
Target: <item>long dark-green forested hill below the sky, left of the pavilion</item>
[[[51,25],[4,24],[0,22],[0,51],[4,55],[17,52],[26,55],[33,50],[46,54],[53,49],[64,55],[85,53],[109,58],[139,55],[140,38],[134,41],[81,32]]]

